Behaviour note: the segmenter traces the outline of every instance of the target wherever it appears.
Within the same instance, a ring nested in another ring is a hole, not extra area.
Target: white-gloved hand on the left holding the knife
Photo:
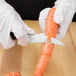
[[[19,45],[26,46],[29,43],[27,33],[33,34],[34,30],[24,24],[12,6],[0,0],[0,47],[8,49],[15,45],[10,32],[14,33]]]

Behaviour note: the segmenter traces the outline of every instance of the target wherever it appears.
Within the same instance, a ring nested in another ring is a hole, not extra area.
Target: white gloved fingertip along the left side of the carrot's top
[[[48,16],[49,10],[50,8],[45,8],[39,14],[39,24],[42,32],[45,32],[45,23],[46,23],[46,18]]]

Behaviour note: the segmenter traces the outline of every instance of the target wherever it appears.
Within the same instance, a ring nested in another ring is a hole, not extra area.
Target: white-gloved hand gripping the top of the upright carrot
[[[56,38],[61,40],[65,36],[76,12],[76,0],[57,0],[54,7],[56,7],[54,21],[59,24]],[[50,8],[45,8],[39,15],[39,24],[43,32],[45,32],[45,22],[49,10]]]

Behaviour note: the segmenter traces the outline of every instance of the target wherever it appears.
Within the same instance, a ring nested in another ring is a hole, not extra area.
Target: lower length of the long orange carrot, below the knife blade
[[[42,54],[40,56],[38,65],[36,67],[36,70],[34,72],[34,76],[43,76],[43,73],[45,72],[46,66],[49,62],[50,56],[52,54],[51,50],[51,44],[49,42],[44,44],[44,47],[42,49]],[[49,47],[49,48],[47,48]]]

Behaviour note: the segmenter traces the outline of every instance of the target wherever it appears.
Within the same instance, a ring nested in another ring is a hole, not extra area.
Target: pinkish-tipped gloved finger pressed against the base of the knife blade
[[[12,32],[16,36],[19,45],[26,46],[29,43],[27,31],[17,17],[14,17]]]

